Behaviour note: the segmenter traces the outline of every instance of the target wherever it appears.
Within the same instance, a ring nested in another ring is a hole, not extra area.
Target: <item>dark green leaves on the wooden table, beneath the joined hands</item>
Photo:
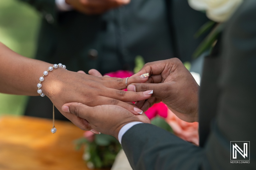
[[[91,162],[95,168],[110,168],[122,148],[115,137],[105,134],[94,135],[92,142],[83,137],[77,139],[75,144],[76,149],[85,147],[85,161]]]

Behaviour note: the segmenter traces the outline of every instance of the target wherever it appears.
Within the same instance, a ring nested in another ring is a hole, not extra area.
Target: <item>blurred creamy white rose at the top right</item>
[[[191,8],[206,11],[208,18],[225,22],[236,11],[243,0],[188,0]]]

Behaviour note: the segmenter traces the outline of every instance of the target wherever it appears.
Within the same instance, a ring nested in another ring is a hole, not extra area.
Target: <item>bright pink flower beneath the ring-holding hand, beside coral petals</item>
[[[168,115],[168,108],[162,102],[156,103],[152,107],[150,107],[145,112],[145,114],[148,116],[149,119],[156,117],[156,115],[166,118]]]

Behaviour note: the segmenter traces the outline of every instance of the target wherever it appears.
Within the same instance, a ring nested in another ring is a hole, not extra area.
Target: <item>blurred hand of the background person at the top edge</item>
[[[110,9],[130,3],[130,0],[66,0],[73,9],[84,14],[102,14]]]

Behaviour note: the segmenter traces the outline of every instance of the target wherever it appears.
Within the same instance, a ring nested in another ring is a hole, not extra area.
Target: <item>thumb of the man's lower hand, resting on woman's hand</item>
[[[72,113],[77,117],[86,119],[88,122],[90,122],[90,118],[92,117],[91,115],[93,113],[92,107],[77,102],[66,103],[61,107],[61,110],[63,112]]]

